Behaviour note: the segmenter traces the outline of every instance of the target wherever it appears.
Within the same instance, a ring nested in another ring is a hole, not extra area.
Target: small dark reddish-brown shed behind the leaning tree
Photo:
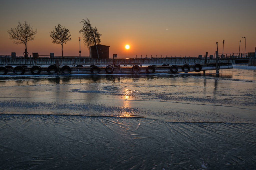
[[[109,58],[109,47],[107,45],[97,44],[100,58]],[[98,58],[95,45],[90,46],[90,58]]]

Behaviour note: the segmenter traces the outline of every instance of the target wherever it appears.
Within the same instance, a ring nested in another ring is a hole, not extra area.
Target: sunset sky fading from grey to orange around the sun
[[[24,44],[13,44],[7,30],[18,21],[28,21],[37,29],[28,52],[39,55],[61,55],[61,45],[52,44],[49,32],[61,24],[70,30],[72,40],[63,45],[65,56],[78,56],[80,21],[89,18],[97,27],[101,44],[110,46],[110,57],[198,56],[214,54],[216,41],[219,53],[238,53],[239,40],[246,52],[256,47],[255,0],[179,0],[179,1],[2,1],[0,6],[0,55],[16,52],[22,55]],[[81,41],[81,43],[83,43]],[[124,47],[129,44],[131,48]],[[81,44],[81,56],[89,49]]]

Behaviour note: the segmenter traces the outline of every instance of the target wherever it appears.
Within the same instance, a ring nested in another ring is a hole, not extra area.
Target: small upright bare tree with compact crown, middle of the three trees
[[[68,41],[71,41],[71,35],[69,35],[70,32],[65,27],[62,27],[60,24],[58,24],[58,27],[55,26],[55,30],[52,30],[50,32],[50,36],[52,39],[52,43],[54,44],[61,44],[61,53],[62,58],[63,57],[63,44],[66,44]]]

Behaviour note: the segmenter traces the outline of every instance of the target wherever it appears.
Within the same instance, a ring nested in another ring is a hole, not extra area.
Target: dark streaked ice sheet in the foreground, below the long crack
[[[254,169],[255,124],[0,115],[1,169]]]

